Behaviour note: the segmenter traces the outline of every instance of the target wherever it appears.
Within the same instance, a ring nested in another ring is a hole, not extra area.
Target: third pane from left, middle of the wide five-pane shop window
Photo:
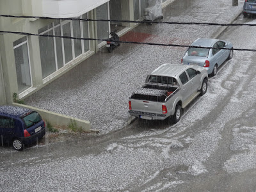
[[[63,25],[63,36],[71,36],[70,22]],[[64,52],[65,52],[65,62],[68,63],[73,59],[72,55],[72,42],[69,38],[63,38],[64,42]]]

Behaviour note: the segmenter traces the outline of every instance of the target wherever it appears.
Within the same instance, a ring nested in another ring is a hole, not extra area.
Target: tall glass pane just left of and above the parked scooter
[[[96,8],[97,19],[108,19],[108,3],[102,4]],[[97,36],[98,38],[106,39],[109,36],[109,22],[97,22]],[[98,41],[100,44],[102,41]]]

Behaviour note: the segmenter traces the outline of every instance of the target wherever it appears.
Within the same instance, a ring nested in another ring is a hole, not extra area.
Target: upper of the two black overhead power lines
[[[256,24],[221,24],[214,22],[169,22],[169,21],[148,21],[148,20],[113,20],[113,19],[80,19],[80,18],[52,18],[38,16],[16,16],[16,15],[0,15],[0,17],[24,18],[24,19],[47,19],[47,20],[82,20],[82,21],[102,21],[102,22],[127,22],[127,23],[154,23],[154,24],[176,24],[176,25],[200,25],[200,26],[256,26]]]

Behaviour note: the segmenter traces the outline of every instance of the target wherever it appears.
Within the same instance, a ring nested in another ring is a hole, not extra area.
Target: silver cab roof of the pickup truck
[[[191,66],[165,63],[160,67],[156,68],[150,75],[175,77],[183,70],[186,70],[186,68],[191,68]]]

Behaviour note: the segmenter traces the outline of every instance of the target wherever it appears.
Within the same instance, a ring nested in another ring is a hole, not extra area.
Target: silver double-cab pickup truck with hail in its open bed
[[[129,98],[129,113],[146,120],[179,122],[182,108],[207,92],[208,74],[203,67],[163,64],[147,76],[145,85]]]

